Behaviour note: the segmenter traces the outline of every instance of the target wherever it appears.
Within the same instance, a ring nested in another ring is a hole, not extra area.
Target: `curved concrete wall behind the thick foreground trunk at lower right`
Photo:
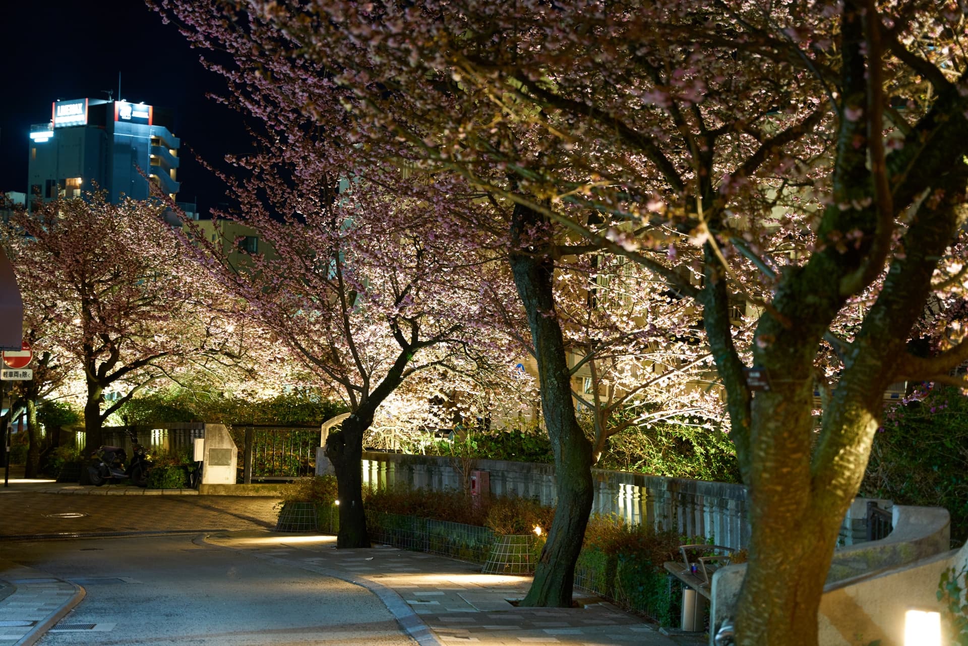
[[[837,549],[821,601],[821,646],[856,646],[881,639],[901,645],[904,611],[938,606],[941,571],[953,564],[947,509],[893,507],[891,536]],[[968,559],[962,548],[960,559]],[[746,566],[712,576],[711,636],[732,623]],[[899,629],[898,629],[899,626]]]

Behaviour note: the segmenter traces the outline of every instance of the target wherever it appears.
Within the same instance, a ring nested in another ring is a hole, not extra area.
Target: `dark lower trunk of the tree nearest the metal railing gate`
[[[336,472],[340,501],[338,548],[370,547],[363,510],[363,433],[370,427],[373,415],[361,418],[353,413],[343,420],[342,430],[326,438],[326,457]],[[365,414],[364,414],[365,415]]]

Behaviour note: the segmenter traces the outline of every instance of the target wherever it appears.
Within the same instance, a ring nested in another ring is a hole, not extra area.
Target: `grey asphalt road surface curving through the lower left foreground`
[[[414,643],[363,588],[198,537],[4,541],[0,557],[87,591],[42,646]]]

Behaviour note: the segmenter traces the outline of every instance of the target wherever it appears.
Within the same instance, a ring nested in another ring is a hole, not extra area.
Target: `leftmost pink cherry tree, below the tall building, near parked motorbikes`
[[[237,350],[163,209],[111,204],[95,193],[38,203],[6,231],[17,281],[31,294],[26,318],[43,318],[49,352],[83,373],[89,447],[101,444],[106,417],[141,388],[177,379],[189,363],[210,368]],[[119,396],[105,406],[108,389]]]

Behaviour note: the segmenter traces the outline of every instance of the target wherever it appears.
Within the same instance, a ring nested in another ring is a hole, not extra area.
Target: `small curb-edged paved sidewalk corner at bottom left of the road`
[[[84,589],[0,560],[0,646],[30,646],[84,598]]]

